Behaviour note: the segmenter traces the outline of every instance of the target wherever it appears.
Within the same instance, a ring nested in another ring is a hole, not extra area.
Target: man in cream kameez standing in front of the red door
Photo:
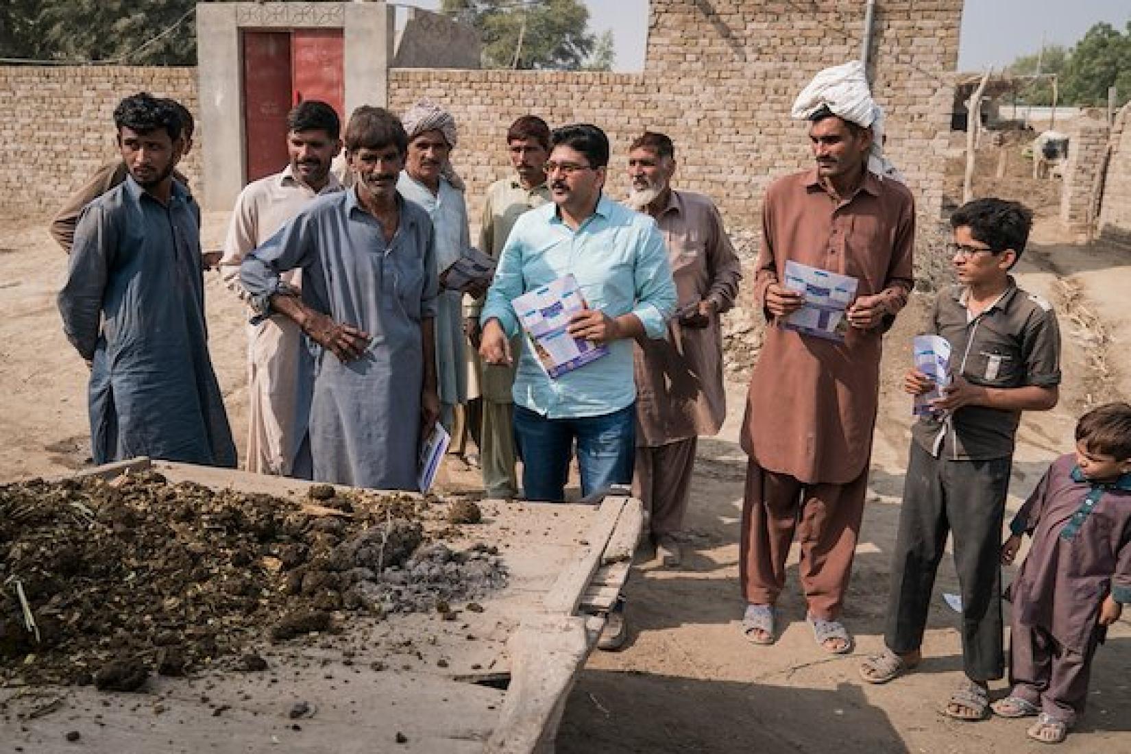
[[[224,283],[240,298],[248,298],[240,284],[243,258],[316,197],[342,190],[330,173],[330,163],[342,149],[340,130],[330,105],[317,99],[299,104],[287,115],[290,164],[240,192],[219,262]],[[297,291],[300,270],[286,272],[283,281]],[[253,318],[248,326],[249,471],[310,475],[310,449],[303,440],[312,376],[310,352],[294,321],[283,315]]]

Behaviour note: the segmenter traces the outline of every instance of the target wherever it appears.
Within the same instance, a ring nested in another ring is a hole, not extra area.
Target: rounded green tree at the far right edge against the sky
[[[1108,87],[1120,103],[1131,99],[1131,21],[1126,34],[1096,24],[1072,47],[1064,75],[1064,95],[1076,105],[1106,105]]]

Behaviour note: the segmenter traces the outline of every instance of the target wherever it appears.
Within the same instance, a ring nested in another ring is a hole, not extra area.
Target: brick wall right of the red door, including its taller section
[[[452,156],[477,213],[484,188],[508,175],[507,127],[534,113],[551,125],[592,122],[613,144],[607,190],[625,193],[625,153],[645,129],[675,140],[679,187],[705,192],[727,223],[757,226],[776,176],[811,164],[794,97],[821,68],[858,58],[860,0],[653,0],[642,73],[395,69],[389,105],[420,97],[449,107]],[[888,153],[924,217],[942,205],[961,0],[877,3],[873,90],[888,113]]]

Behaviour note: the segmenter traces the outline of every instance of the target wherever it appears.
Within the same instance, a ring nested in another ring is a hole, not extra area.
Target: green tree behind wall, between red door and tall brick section
[[[441,11],[478,29],[485,68],[577,70],[595,44],[580,0],[443,0]]]

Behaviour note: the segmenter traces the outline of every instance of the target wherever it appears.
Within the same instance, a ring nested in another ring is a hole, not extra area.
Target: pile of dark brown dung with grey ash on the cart
[[[444,544],[441,508],[328,485],[290,501],[152,471],[0,486],[0,682],[130,688],[238,656],[265,627],[285,641],[337,631],[347,610],[446,610],[503,586],[497,549]]]

